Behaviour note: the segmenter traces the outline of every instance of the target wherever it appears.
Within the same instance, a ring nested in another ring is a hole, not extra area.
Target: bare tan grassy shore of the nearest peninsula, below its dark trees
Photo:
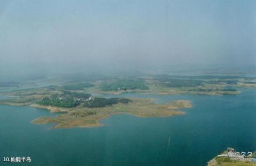
[[[104,125],[100,123],[100,120],[113,115],[127,114],[139,118],[164,118],[185,115],[186,112],[179,109],[192,107],[188,100],[173,100],[170,103],[152,103],[152,101],[153,99],[133,99],[133,102],[129,104],[119,103],[102,108],[85,108],[78,106],[78,108],[70,109],[31,104],[30,107],[47,109],[50,112],[63,112],[63,114],[56,117],[38,117],[32,120],[31,123],[54,123],[56,125],[53,128],[100,127]],[[86,112],[97,113],[84,115]]]

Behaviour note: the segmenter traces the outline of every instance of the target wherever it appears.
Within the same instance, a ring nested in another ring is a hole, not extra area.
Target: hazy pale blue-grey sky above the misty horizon
[[[0,0],[0,73],[256,66],[256,1]]]

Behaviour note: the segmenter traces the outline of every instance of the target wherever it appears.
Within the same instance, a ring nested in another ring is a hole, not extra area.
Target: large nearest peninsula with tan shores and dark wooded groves
[[[54,128],[101,126],[99,120],[117,113],[129,113],[138,117],[183,115],[185,112],[180,109],[191,107],[188,100],[155,103],[154,99],[107,99],[94,97],[83,91],[63,90],[59,86],[17,90],[6,94],[11,98],[1,100],[0,104],[33,106],[51,112],[62,112],[57,117],[39,117],[32,121],[36,124],[55,123]]]

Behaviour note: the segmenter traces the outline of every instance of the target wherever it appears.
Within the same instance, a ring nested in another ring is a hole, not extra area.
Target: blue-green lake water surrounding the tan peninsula
[[[52,129],[35,125],[45,109],[0,105],[0,157],[30,156],[22,165],[174,165],[203,166],[227,147],[256,150],[256,90],[238,95],[140,95],[105,97],[190,100],[182,116],[139,118],[115,115],[103,127]],[[170,138],[170,139],[169,139]],[[170,141],[169,141],[170,140]],[[0,165],[16,165],[0,161]],[[19,165],[19,164],[18,164]]]

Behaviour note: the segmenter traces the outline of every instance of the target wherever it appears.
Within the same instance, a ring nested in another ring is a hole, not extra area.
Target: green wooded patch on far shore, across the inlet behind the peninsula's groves
[[[116,80],[110,83],[103,83],[101,85],[102,91],[117,91],[117,90],[148,90],[148,86],[146,86],[143,80]]]

